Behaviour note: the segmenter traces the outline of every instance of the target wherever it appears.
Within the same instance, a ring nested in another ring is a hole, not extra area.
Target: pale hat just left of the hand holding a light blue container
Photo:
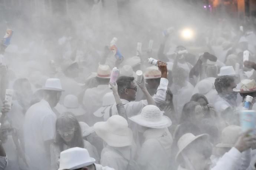
[[[216,147],[233,147],[241,132],[242,128],[240,126],[227,126],[222,130],[221,143]]]

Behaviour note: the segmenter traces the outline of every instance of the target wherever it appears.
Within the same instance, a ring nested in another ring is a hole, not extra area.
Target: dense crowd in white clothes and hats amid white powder
[[[62,27],[58,38],[37,30],[30,43],[14,30],[0,42],[0,170],[256,169],[255,129],[240,125],[246,96],[256,110],[252,18],[201,27],[189,43],[173,27],[143,34],[121,22],[124,35],[105,21],[114,46],[97,21],[79,33]]]

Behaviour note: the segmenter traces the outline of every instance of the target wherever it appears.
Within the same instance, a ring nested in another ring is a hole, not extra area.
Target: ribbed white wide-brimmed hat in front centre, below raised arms
[[[139,115],[129,118],[133,122],[148,128],[162,129],[171,126],[171,119],[154,105],[145,106]]]

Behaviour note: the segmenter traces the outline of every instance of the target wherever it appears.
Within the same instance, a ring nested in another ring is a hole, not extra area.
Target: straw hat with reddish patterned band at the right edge
[[[256,92],[256,82],[254,79],[243,79],[241,81],[241,87],[240,89],[234,88],[234,92],[239,93],[250,93],[250,92]]]

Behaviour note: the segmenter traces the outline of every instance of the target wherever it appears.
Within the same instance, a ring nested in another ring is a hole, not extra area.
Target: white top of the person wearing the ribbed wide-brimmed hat
[[[148,129],[137,163],[145,170],[169,170],[173,138],[167,128]]]

